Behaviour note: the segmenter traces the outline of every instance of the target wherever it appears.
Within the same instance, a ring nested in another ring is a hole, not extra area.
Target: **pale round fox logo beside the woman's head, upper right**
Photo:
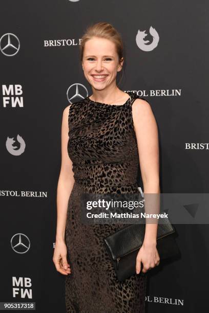
[[[150,27],[150,35],[153,37],[153,41],[150,43],[149,40],[144,40],[145,37],[147,37],[148,34],[145,33],[145,31],[138,30],[138,33],[136,35],[136,44],[142,51],[152,51],[154,50],[159,42],[159,35],[158,32],[153,28]]]

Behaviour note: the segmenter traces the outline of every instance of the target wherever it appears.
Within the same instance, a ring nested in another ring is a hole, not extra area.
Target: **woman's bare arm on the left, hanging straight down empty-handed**
[[[70,105],[64,109],[62,115],[61,169],[57,184],[57,227],[56,242],[53,255],[53,262],[55,264],[56,270],[64,275],[68,275],[71,273],[70,265],[67,262],[65,230],[68,211],[68,200],[75,182],[72,171],[72,161],[69,158],[67,149],[69,140],[68,116]]]

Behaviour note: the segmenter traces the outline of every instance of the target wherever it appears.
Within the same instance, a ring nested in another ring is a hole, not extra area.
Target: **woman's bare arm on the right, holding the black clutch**
[[[156,200],[155,208],[156,211],[152,213],[159,213],[159,207],[157,207],[158,202],[157,195],[156,197],[154,195],[149,195],[149,194],[159,195],[160,193],[159,143],[158,143],[157,123],[150,104],[143,99],[136,99],[134,101],[132,105],[132,114],[134,129],[137,138],[141,177],[144,188],[145,212],[147,213],[146,211],[147,205],[148,205],[147,209],[149,210],[149,203],[152,203],[154,199]],[[158,253],[156,253],[156,244],[157,244],[156,237],[157,237],[157,222],[156,223],[146,222],[143,248],[145,248],[147,252],[146,259],[147,261],[145,262],[147,263],[147,266],[146,264],[145,266],[143,266],[144,273],[147,268],[149,269],[150,267],[154,267],[155,264],[158,263],[157,260],[159,260],[159,255]]]

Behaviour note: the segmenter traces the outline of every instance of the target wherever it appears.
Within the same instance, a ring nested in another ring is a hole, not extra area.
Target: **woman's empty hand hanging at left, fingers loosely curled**
[[[70,264],[67,261],[67,247],[65,240],[56,241],[53,255],[56,270],[64,275],[71,274]]]

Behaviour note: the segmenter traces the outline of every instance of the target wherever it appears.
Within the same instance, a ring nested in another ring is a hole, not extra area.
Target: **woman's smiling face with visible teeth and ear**
[[[83,51],[83,73],[95,90],[103,90],[112,83],[116,84],[117,72],[122,69],[119,64],[114,42],[94,37],[85,43]]]

